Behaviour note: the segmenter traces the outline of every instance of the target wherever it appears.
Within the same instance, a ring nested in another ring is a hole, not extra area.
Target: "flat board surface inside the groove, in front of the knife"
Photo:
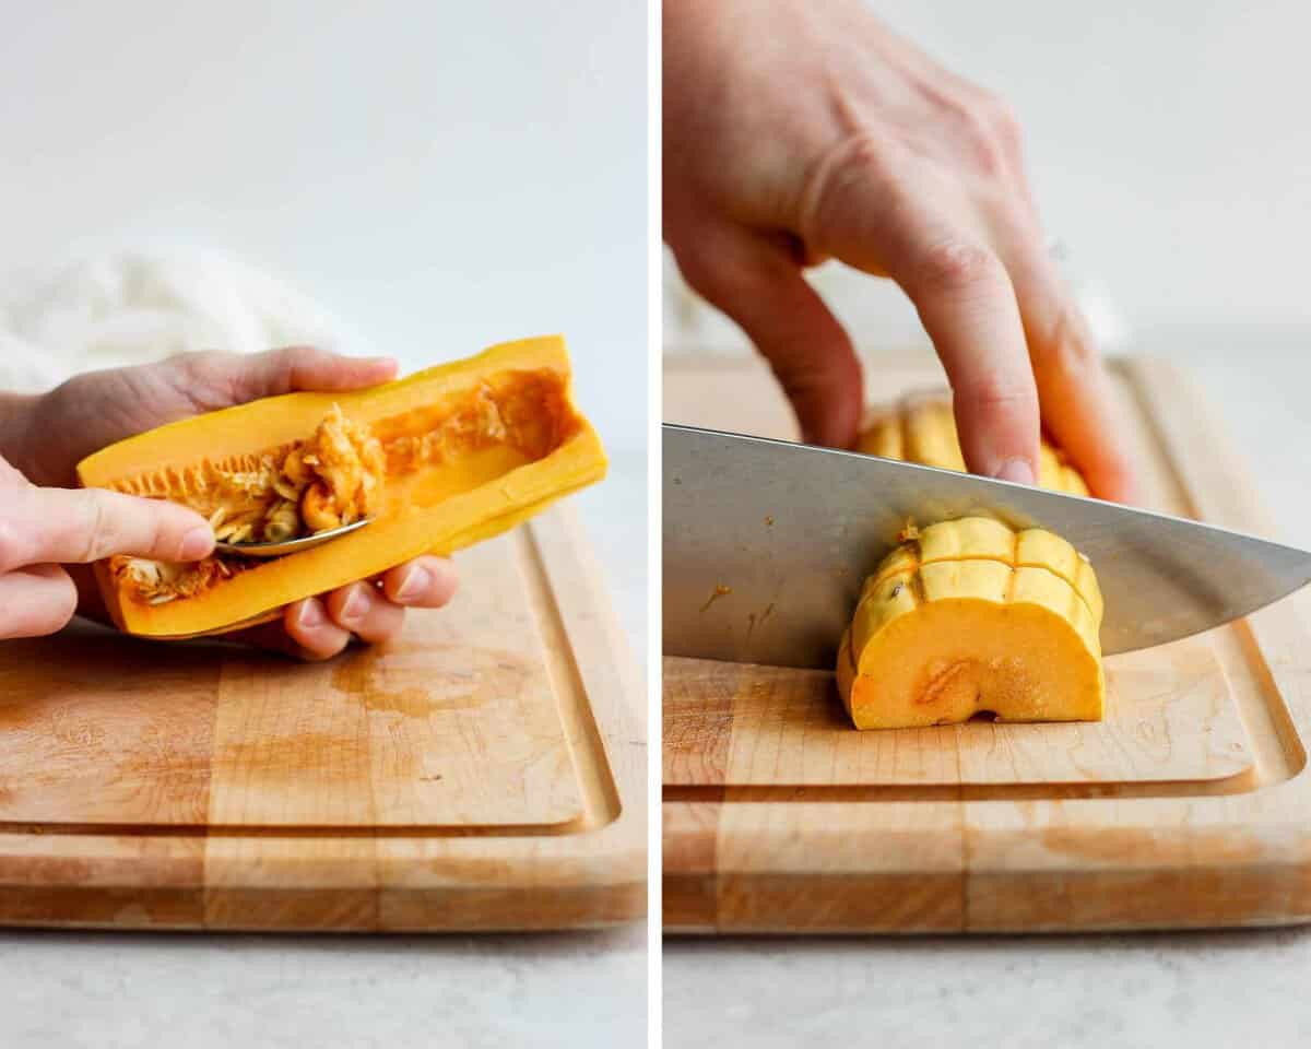
[[[1096,724],[853,732],[831,674],[674,657],[663,666],[670,787],[1200,782],[1252,768],[1221,665],[1196,640],[1112,660]]]

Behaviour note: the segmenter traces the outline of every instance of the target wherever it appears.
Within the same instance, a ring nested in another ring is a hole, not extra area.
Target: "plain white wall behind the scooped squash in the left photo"
[[[645,448],[640,0],[0,10],[0,274],[216,247],[408,368],[564,332]]]

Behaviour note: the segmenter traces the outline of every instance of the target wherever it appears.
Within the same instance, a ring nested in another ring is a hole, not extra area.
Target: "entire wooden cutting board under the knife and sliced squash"
[[[873,396],[943,383],[926,359]],[[1143,502],[1270,534],[1186,376],[1116,366]],[[671,358],[671,422],[794,439],[750,359]],[[863,566],[864,568],[864,566]],[[732,584],[732,580],[726,580]],[[666,657],[666,931],[935,932],[1311,918],[1311,602],[1106,661],[1100,724],[848,726],[832,675]],[[732,594],[708,614],[768,629]]]

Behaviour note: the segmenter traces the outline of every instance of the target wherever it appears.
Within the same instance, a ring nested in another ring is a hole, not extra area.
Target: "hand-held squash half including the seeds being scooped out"
[[[372,518],[273,560],[97,564],[114,622],[152,637],[274,619],[300,598],[498,535],[604,473],[600,439],[574,404],[569,357],[555,336],[372,389],[288,393],[172,422],[77,465],[85,486],[193,506],[239,540]]]

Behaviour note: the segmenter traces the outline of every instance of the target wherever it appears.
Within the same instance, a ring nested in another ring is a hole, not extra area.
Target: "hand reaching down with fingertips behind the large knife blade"
[[[665,239],[770,359],[805,439],[848,446],[851,341],[802,278],[890,277],[947,370],[969,467],[1032,484],[1042,421],[1093,492],[1131,469],[1097,347],[1062,287],[1020,130],[860,0],[666,0]]]

